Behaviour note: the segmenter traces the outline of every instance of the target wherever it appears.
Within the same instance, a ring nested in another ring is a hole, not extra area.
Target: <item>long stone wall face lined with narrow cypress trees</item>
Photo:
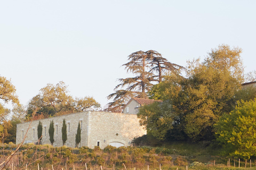
[[[42,144],[51,144],[50,137],[49,137],[49,126],[50,122],[53,120],[54,123],[54,143],[53,146],[60,147],[63,145],[62,143],[62,124],[63,119],[65,118],[66,124],[67,124],[67,141],[65,143],[68,147],[75,147],[75,139],[76,139],[76,132],[77,132],[77,126],[78,122],[81,123],[82,131],[81,131],[81,146],[87,146],[88,136],[87,136],[87,130],[88,130],[88,112],[81,112],[81,113],[73,113],[68,115],[61,115],[61,116],[55,116],[50,118],[45,118],[42,120],[36,120],[31,123],[30,129],[27,133],[27,138],[25,139],[25,143],[30,142],[37,142],[37,125],[39,121],[43,124],[43,138],[42,138]],[[23,137],[25,137],[25,134],[27,132],[27,129],[29,128],[30,122],[20,123],[17,124],[17,135],[16,135],[16,143],[21,143]],[[57,132],[58,128],[58,132]],[[22,137],[23,136],[23,137]]]

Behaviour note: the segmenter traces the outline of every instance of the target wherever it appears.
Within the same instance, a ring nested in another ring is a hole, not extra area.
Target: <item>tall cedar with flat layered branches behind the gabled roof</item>
[[[115,92],[107,98],[113,99],[108,103],[106,111],[122,112],[122,107],[132,97],[147,98],[147,92],[153,82],[161,82],[163,72],[178,71],[183,67],[170,63],[154,50],[138,51],[128,56],[129,62],[123,64],[127,72],[135,74],[133,78],[118,79],[121,83],[115,87]],[[118,90],[121,88],[120,90]],[[122,89],[125,88],[125,89]]]

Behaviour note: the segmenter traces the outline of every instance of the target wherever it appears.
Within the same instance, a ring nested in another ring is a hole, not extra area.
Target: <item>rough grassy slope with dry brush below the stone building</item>
[[[36,169],[37,164],[43,169],[236,169],[234,159],[230,160],[230,167],[227,167],[226,157],[218,156],[219,150],[217,147],[209,145],[210,143],[201,142],[190,144],[186,142],[172,142],[164,147],[120,147],[115,148],[108,146],[105,149],[95,147],[90,149],[68,148],[66,146],[54,148],[51,145],[36,146],[32,143],[23,145],[19,154],[15,154],[10,160],[9,169],[12,165],[16,169]],[[10,155],[17,146],[0,145],[0,161],[6,160],[7,155]],[[215,160],[215,166],[214,166]],[[241,163],[241,167],[244,163]],[[253,162],[253,168],[255,162]],[[3,167],[3,166],[2,166]],[[250,167],[247,164],[247,167]],[[253,169],[252,168],[252,169]],[[241,168],[240,168],[241,169]],[[255,168],[256,169],[256,168]]]

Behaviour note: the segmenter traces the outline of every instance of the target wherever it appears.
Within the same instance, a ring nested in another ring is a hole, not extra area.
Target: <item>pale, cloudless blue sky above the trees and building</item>
[[[47,83],[64,81],[70,95],[104,106],[138,50],[186,66],[228,44],[243,49],[245,71],[253,71],[255,8],[256,1],[2,1],[0,75],[23,105]]]

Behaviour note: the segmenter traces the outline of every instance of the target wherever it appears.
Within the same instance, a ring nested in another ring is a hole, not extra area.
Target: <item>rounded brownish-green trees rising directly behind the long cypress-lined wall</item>
[[[62,81],[47,84],[38,95],[33,97],[28,105],[27,120],[31,118],[34,111],[34,119],[47,118],[55,115],[82,112],[100,107],[93,97],[73,98],[68,95],[68,87]]]

